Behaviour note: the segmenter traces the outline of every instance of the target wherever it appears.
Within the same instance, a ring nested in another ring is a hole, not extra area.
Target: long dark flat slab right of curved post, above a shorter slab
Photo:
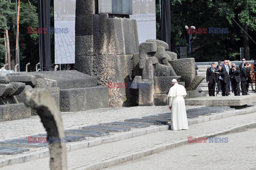
[[[109,135],[108,132],[101,132],[101,131],[85,131],[85,130],[77,130],[77,129],[70,129],[66,130],[66,135],[69,136],[82,136],[82,137],[100,137],[103,135]]]

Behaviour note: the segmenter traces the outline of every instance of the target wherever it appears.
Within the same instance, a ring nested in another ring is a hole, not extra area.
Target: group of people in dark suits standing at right
[[[206,71],[206,81],[209,89],[209,96],[215,96],[215,83],[219,81],[222,91],[222,96],[228,96],[229,93],[229,81],[231,81],[231,86],[234,91],[235,96],[240,96],[241,89],[242,95],[249,95],[248,89],[251,82],[250,63],[245,64],[245,59],[242,60],[243,63],[236,67],[236,64],[228,65],[228,61],[225,60],[222,65],[221,62],[215,67],[215,63],[211,64]],[[241,82],[241,89],[240,84]],[[218,94],[218,92],[217,92]]]

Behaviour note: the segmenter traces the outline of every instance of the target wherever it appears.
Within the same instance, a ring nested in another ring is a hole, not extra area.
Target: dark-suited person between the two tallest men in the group
[[[241,92],[241,90],[240,90],[240,81],[241,81],[240,69],[239,69],[239,67],[236,67],[235,63],[232,64],[229,75],[230,75],[230,80],[231,80],[231,86],[234,90],[235,96],[240,96],[240,92]]]

